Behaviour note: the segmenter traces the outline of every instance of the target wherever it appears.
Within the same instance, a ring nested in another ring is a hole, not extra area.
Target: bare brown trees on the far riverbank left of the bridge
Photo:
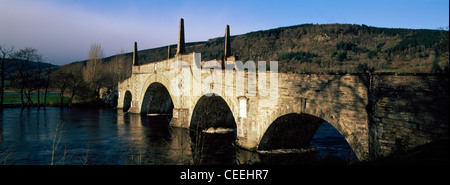
[[[107,61],[100,44],[92,44],[88,60],[56,66],[43,62],[42,55],[34,48],[15,51],[13,47],[2,51],[0,73],[1,106],[4,105],[4,90],[18,92],[21,106],[49,106],[47,94],[59,92],[57,105],[72,106],[79,103],[98,102],[102,87],[112,88],[131,74],[131,58],[115,55]],[[34,96],[33,93],[37,94]],[[64,97],[67,104],[64,104]]]

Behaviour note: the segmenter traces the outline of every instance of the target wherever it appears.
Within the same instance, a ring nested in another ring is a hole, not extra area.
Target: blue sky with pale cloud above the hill
[[[45,62],[86,60],[93,43],[105,56],[298,24],[387,28],[449,26],[448,0],[0,0],[0,46],[38,49]]]

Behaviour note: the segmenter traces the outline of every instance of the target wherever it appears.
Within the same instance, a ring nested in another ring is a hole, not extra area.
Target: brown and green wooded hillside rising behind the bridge
[[[428,73],[433,62],[439,71],[448,69],[448,36],[444,30],[303,24],[232,36],[231,52],[244,62],[279,61],[280,72],[352,73],[372,68]],[[139,51],[140,62],[166,59],[167,47]],[[174,55],[176,45],[171,49]],[[223,37],[186,45],[186,52],[201,52],[202,60],[222,59],[223,50]],[[126,56],[131,60],[132,53]]]

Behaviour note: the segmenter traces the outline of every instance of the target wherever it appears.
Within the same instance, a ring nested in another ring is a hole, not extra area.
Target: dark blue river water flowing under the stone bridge
[[[0,110],[0,163],[17,165],[348,164],[350,146],[329,123],[303,149],[250,152],[229,129],[195,134],[167,126],[169,117],[121,109]]]

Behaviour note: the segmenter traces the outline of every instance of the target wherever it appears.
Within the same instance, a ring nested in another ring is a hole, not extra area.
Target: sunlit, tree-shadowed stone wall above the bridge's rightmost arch
[[[368,157],[367,86],[360,75],[279,74],[279,106],[272,114],[309,114],[333,125],[359,159]],[[269,120],[272,120],[270,118]]]

